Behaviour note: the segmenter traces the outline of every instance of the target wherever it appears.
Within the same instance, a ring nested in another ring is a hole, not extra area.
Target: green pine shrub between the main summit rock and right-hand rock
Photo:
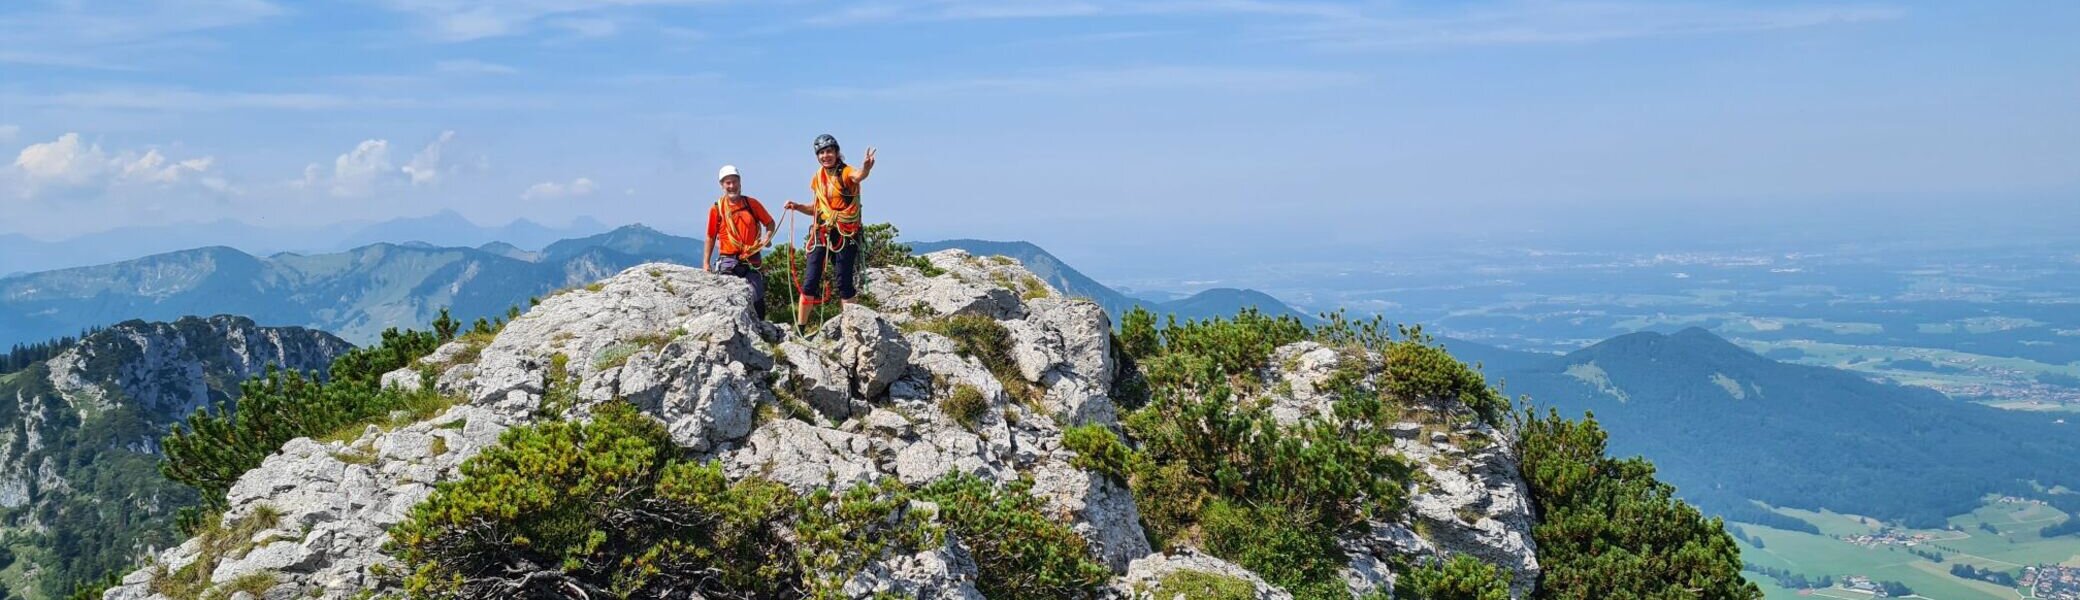
[[[1437,415],[1466,406],[1489,423],[1508,410],[1477,371],[1421,329],[1342,312],[1325,319],[1315,329],[1256,310],[1163,325],[1146,310],[1121,319],[1115,358],[1132,385],[1115,383],[1115,394],[1146,404],[1123,419],[1138,450],[1104,463],[1127,465],[1150,542],[1200,546],[1298,598],[1346,598],[1337,540],[1406,510],[1414,469],[1396,458],[1389,425],[1410,406]],[[1342,354],[1319,388],[1331,415],[1279,423],[1267,406],[1242,402],[1263,385],[1263,369],[1279,367],[1271,354],[1304,340]],[[1373,352],[1385,356],[1381,377],[1373,377]]]

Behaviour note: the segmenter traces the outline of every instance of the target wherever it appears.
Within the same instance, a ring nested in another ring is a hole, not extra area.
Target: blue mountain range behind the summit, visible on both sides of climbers
[[[597,223],[580,221],[574,227],[591,225]],[[212,227],[204,227],[214,231],[208,235],[225,235],[212,240],[235,240],[237,231],[250,229],[231,221]],[[385,327],[422,327],[441,306],[468,321],[649,260],[699,265],[699,240],[643,225],[543,240],[555,231],[528,221],[474,227],[456,213],[441,213],[364,227],[349,240],[379,242],[343,252],[256,256],[204,246],[96,267],[8,275],[0,277],[0,346],[42,342],[127,319],[216,312],[248,315],[266,325],[327,329],[366,344]],[[512,235],[510,240],[526,244],[487,240],[491,235]],[[1204,290],[1169,302],[1129,298],[1028,242],[948,240],[911,246],[917,252],[961,248],[1017,258],[1057,290],[1096,300],[1115,319],[1134,306],[1179,319],[1233,317],[1254,306],[1269,315],[1317,321],[1254,290]]]

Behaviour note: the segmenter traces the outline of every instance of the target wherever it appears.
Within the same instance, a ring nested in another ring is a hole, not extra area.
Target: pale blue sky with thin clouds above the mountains
[[[2074,31],[2080,2],[25,0],[0,233],[686,231],[724,162],[801,198],[826,131],[880,148],[872,219],[1069,258],[2057,221]]]

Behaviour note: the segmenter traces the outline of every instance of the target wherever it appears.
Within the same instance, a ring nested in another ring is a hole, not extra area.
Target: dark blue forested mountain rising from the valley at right
[[[1629,333],[1566,356],[1481,352],[1506,367],[1487,373],[1508,394],[1595,413],[1614,456],[1647,456],[1687,500],[1737,521],[1797,527],[1756,500],[1945,527],[1986,494],[2080,490],[2080,429],[2061,415],[1776,362],[1706,329]]]

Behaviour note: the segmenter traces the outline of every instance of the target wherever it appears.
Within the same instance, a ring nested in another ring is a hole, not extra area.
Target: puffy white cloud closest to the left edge
[[[29,144],[15,156],[15,173],[23,183],[23,196],[35,196],[44,188],[108,188],[108,185],[173,185],[198,181],[216,192],[229,192],[231,183],[210,175],[216,156],[171,160],[158,148],[144,154],[125,150],[108,154],[100,144],[81,142],[79,133],[64,133],[58,140]]]

